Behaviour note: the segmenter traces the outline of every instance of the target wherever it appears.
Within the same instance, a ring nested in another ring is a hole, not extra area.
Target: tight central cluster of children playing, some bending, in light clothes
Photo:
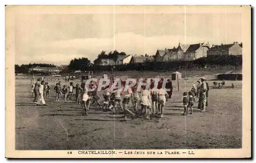
[[[82,107],[85,111],[85,115],[88,115],[90,103],[97,102],[100,108],[104,111],[111,111],[116,114],[117,110],[121,110],[124,113],[124,120],[127,120],[127,115],[135,118],[138,114],[138,104],[141,105],[140,113],[144,114],[145,119],[150,119],[152,114],[156,114],[158,117],[163,117],[163,107],[168,98],[168,94],[165,89],[152,88],[146,90],[145,87],[141,89],[141,95],[137,91],[137,85],[134,87],[127,87],[125,91],[125,85],[122,88],[115,88],[113,91],[110,90],[110,86],[103,88],[103,104],[99,103],[99,96],[97,95],[97,85],[89,85],[95,87],[95,91],[91,91],[90,94],[87,90],[83,91],[82,95]],[[123,97],[123,98],[122,98]],[[133,108],[128,107],[129,103],[132,102]],[[139,115],[140,117],[142,115]]]

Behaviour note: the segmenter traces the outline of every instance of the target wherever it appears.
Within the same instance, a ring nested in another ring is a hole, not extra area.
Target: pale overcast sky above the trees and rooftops
[[[93,62],[102,51],[155,55],[184,44],[241,42],[241,13],[18,14],[15,63]],[[53,57],[55,56],[55,57]]]

